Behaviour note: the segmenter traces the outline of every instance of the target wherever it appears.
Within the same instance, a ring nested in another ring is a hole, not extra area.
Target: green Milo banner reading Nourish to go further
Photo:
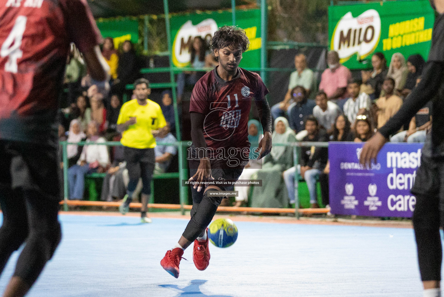
[[[350,69],[371,67],[373,52],[383,52],[388,63],[395,52],[427,60],[434,21],[428,0],[330,6],[330,49]]]

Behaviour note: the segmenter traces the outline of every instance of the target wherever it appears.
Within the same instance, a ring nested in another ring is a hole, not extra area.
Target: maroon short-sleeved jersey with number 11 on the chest
[[[190,112],[205,115],[203,134],[208,148],[250,148],[247,125],[251,101],[262,100],[268,89],[257,73],[238,68],[238,74],[225,81],[216,69],[194,85]]]

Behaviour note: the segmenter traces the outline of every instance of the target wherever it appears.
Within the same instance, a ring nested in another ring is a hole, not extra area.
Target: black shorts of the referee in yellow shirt
[[[154,148],[129,148],[125,146],[123,147],[123,157],[127,162],[130,180],[139,180],[145,174],[150,178],[152,177],[156,161]]]

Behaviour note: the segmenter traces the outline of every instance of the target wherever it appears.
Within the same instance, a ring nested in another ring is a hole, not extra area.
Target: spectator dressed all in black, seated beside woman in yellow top
[[[117,79],[114,80],[113,90],[122,95],[127,84],[132,84],[139,77],[137,68],[137,56],[130,40],[125,40],[122,45],[122,53],[119,55],[119,66],[117,67]]]

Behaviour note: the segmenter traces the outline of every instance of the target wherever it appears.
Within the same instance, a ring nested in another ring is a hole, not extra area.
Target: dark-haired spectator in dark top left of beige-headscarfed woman
[[[387,60],[382,52],[375,52],[372,56],[373,72],[362,70],[362,84],[361,92],[370,96],[374,100],[380,97],[382,91],[382,84],[385,76],[387,76]]]

